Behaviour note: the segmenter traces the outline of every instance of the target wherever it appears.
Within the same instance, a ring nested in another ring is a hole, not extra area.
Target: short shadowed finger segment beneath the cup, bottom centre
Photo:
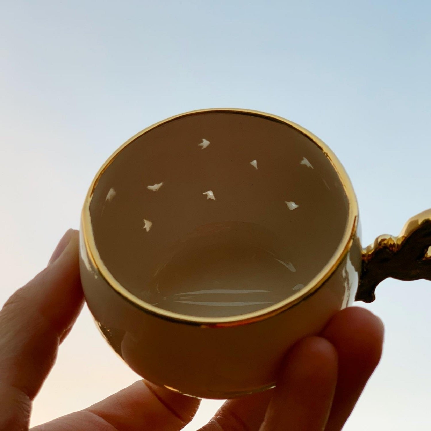
[[[226,401],[199,431],[258,431],[273,390]]]

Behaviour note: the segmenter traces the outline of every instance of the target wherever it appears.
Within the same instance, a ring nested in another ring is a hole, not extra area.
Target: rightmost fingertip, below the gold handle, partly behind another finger
[[[380,361],[383,334],[381,320],[359,307],[338,312],[322,332],[338,353],[338,382],[326,431],[343,428]]]

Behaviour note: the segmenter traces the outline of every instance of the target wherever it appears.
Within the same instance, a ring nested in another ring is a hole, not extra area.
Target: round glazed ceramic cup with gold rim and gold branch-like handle
[[[94,178],[81,279],[103,336],[147,380],[195,397],[275,385],[297,340],[386,277],[431,278],[431,211],[362,250],[356,197],[306,129],[241,109],[136,134]]]

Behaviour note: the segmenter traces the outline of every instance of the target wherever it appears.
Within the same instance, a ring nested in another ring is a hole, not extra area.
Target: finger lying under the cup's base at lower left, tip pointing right
[[[191,421],[199,402],[140,380],[88,409],[31,431],[176,431]]]

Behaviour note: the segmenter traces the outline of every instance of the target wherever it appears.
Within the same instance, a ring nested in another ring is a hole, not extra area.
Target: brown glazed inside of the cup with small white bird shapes
[[[138,134],[99,175],[89,209],[100,258],[125,289],[212,318],[306,288],[344,237],[349,200],[333,162],[294,125],[204,111]]]

